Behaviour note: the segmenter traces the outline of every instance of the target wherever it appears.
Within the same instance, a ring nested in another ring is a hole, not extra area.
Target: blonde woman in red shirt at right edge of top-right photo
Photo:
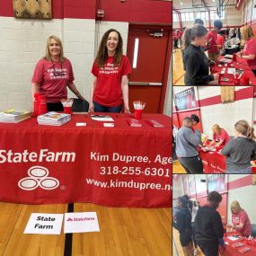
[[[252,68],[256,76],[256,37],[253,34],[251,26],[244,26],[241,28],[242,39],[244,40],[244,49],[237,53],[238,57],[247,60],[248,65]]]

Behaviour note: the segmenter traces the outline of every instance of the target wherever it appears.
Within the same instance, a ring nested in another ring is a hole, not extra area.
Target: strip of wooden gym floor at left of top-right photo
[[[181,49],[175,49],[172,52],[172,84],[184,85],[184,75]]]

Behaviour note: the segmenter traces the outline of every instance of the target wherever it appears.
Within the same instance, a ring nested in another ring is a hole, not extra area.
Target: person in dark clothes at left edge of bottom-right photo
[[[193,255],[193,246],[191,243],[192,227],[191,227],[191,215],[188,210],[188,200],[184,197],[179,197],[176,201],[178,211],[176,212],[172,225],[180,233],[181,247],[184,252],[184,256]]]

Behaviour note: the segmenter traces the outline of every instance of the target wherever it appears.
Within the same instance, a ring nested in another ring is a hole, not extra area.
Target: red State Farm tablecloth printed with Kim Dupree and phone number
[[[0,201],[171,207],[171,118],[144,114],[134,128],[128,114],[109,115],[114,128],[90,114],[72,115],[60,127],[36,118],[0,123]]]

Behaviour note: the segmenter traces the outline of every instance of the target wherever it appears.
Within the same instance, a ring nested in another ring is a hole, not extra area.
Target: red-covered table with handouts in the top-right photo
[[[254,85],[256,84],[256,77],[252,72],[252,69],[250,66],[248,66],[245,59],[242,59],[240,57],[237,57],[236,60],[232,60],[232,63],[229,65],[230,68],[236,68],[236,69],[243,69],[243,75],[240,79],[239,84],[235,84],[235,79],[233,74],[227,74],[228,67],[226,65],[221,65],[220,60],[224,57],[218,57],[217,65],[212,67],[212,74],[220,73],[223,68],[225,68],[225,74],[220,74],[219,76],[219,85]],[[221,66],[218,66],[221,65]],[[246,83],[244,80],[244,76],[249,78],[249,84]],[[225,78],[228,78],[228,81],[225,81]]]

